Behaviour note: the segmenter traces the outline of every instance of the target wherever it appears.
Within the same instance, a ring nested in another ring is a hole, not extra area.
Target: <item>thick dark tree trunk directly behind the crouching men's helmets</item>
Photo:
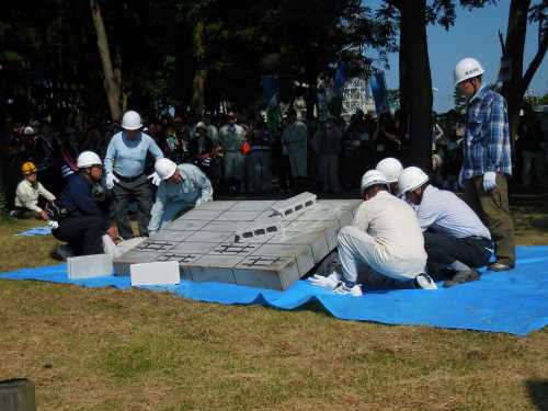
[[[401,31],[409,76],[409,165],[432,170],[432,78],[426,42],[426,0],[401,2]],[[401,53],[401,52],[400,52]]]

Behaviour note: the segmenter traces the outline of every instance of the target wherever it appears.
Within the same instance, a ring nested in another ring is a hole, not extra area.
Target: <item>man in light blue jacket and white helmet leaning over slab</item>
[[[148,225],[150,235],[170,222],[185,206],[213,199],[212,183],[196,165],[178,165],[170,159],[159,159],[155,169],[162,182]]]

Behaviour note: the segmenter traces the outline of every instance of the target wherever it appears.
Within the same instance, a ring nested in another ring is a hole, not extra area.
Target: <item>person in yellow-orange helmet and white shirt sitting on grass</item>
[[[48,192],[38,182],[38,169],[32,162],[25,162],[21,165],[21,172],[24,175],[23,181],[18,185],[15,192],[15,210],[12,213],[18,218],[39,218],[48,220],[48,214],[38,206],[39,196],[47,202],[55,201],[55,195]]]

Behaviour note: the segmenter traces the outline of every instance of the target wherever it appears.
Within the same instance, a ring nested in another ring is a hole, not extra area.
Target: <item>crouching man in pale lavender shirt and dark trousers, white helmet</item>
[[[398,186],[408,202],[415,205],[429,255],[429,273],[448,270],[452,279],[444,287],[479,279],[476,269],[489,263],[493,246],[478,215],[455,193],[431,185],[426,173],[416,167],[401,172]]]

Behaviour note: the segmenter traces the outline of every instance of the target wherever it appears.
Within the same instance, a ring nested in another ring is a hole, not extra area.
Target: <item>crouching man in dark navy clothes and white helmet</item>
[[[67,186],[58,201],[59,227],[52,230],[58,240],[68,242],[73,255],[103,253],[102,237],[113,239],[115,230],[111,221],[93,198],[93,184],[103,176],[103,162],[93,151],[83,151],[78,157],[79,171],[67,179]],[[58,248],[59,249],[59,248]],[[65,258],[61,253],[54,254]]]

